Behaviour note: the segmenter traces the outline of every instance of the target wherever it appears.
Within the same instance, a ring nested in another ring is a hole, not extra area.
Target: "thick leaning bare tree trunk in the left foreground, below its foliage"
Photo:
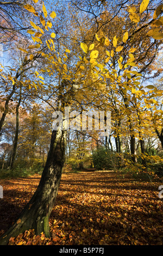
[[[65,162],[66,131],[54,131],[51,138],[47,161],[39,186],[23,209],[14,225],[1,236],[0,245],[7,245],[10,237],[34,229],[35,234],[43,232],[50,236],[49,215],[54,206]]]

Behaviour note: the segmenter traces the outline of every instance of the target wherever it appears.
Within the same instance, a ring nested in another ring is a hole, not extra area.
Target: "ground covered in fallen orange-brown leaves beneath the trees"
[[[40,176],[1,180],[0,235],[32,197]],[[49,224],[51,239],[27,230],[9,245],[162,245],[161,182],[111,171],[62,174]]]

